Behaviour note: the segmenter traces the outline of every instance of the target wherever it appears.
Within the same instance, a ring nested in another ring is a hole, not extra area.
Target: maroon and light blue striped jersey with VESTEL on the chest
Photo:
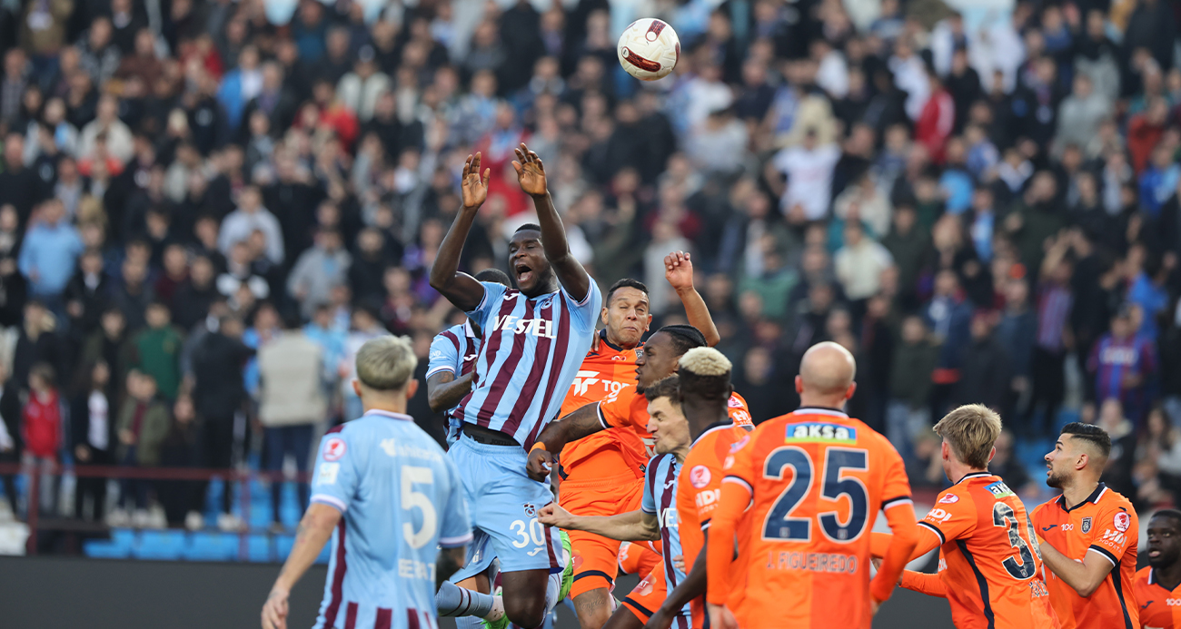
[[[594,336],[602,294],[582,301],[565,288],[536,297],[491,282],[468,317],[484,332],[472,391],[456,415],[511,434],[526,450],[557,417]]]

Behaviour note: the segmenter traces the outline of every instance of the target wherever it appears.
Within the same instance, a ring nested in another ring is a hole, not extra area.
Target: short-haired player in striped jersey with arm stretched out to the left
[[[541,510],[544,524],[567,531],[590,531],[621,542],[660,540],[661,558],[648,575],[627,595],[612,614],[608,629],[640,629],[652,616],[652,610],[664,603],[668,584],[684,581],[678,568],[680,532],[677,517],[677,478],[689,453],[689,421],[680,412],[679,379],[671,375],[644,391],[648,402],[648,432],[655,440],[655,457],[645,472],[644,498],[640,509],[611,517],[573,516],[561,506],[550,504]],[[677,616],[679,629],[689,629],[690,610],[686,605]]]

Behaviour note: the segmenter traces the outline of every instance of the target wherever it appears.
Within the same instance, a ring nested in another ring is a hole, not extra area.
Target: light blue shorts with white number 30
[[[448,456],[459,470],[475,535],[471,562],[452,582],[482,572],[492,557],[500,559],[502,572],[566,568],[559,530],[537,522],[537,510],[554,502],[554,494],[548,484],[526,474],[528,454],[521,446],[478,444],[463,435]]]

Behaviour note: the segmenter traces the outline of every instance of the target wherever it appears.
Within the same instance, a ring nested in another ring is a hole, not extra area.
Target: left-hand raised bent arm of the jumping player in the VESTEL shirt
[[[463,243],[471,231],[476,212],[488,198],[489,176],[490,170],[484,169],[483,179],[479,177],[479,153],[475,157],[469,155],[463,164],[463,208],[456,214],[455,223],[451,223],[451,229],[443,237],[435,263],[431,264],[431,288],[465,313],[475,310],[484,299],[484,287],[475,277],[459,271],[459,254],[463,253]]]

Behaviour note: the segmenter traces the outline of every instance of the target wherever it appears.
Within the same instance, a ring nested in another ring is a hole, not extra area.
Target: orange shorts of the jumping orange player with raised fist
[[[628,472],[590,481],[567,478],[559,493],[559,504],[575,516],[616,516],[638,510],[642,498],[644,479]],[[613,589],[620,542],[586,531],[567,533],[574,555],[570,597],[576,598],[599,588]]]

